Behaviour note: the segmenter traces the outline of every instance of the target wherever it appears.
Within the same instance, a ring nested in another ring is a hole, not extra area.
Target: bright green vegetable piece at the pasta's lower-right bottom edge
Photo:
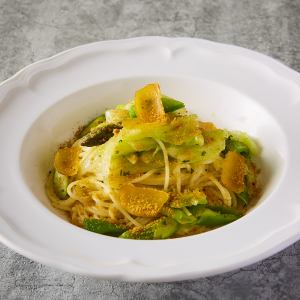
[[[198,211],[198,215],[199,216],[197,217],[196,224],[207,227],[222,226],[231,223],[239,218],[236,215],[222,214],[209,208],[202,208],[201,211]]]

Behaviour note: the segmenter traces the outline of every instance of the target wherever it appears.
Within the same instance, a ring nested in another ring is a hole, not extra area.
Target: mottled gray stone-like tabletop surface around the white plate
[[[62,50],[143,35],[250,48],[300,71],[300,0],[0,0],[0,80]],[[176,283],[77,276],[0,245],[0,299],[299,299],[300,242],[234,272]]]

